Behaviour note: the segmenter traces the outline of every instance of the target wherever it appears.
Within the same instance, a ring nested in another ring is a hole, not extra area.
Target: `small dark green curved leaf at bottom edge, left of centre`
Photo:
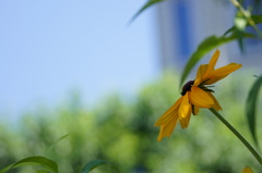
[[[111,166],[116,172],[120,173],[120,171],[111,163],[108,163],[104,160],[99,160],[99,159],[96,159],[96,160],[93,160],[91,162],[88,162],[87,164],[85,164],[85,166],[83,168],[83,170],[81,171],[81,173],[88,173],[91,172],[92,170],[94,170],[95,168],[99,166],[99,165],[109,165]]]

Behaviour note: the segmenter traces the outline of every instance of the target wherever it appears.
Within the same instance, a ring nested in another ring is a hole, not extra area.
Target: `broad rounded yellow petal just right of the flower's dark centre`
[[[202,89],[196,86],[191,87],[189,92],[189,100],[192,104],[199,108],[212,108],[214,104],[213,99]]]

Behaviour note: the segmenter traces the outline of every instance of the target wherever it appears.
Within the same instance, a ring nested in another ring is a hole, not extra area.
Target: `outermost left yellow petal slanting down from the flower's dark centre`
[[[175,116],[178,112],[179,106],[182,101],[183,97],[180,97],[175,104],[171,106],[155,123],[155,126],[160,126],[169,121],[171,121],[172,116]]]

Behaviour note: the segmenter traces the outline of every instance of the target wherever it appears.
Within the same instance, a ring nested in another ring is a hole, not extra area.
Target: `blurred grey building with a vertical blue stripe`
[[[157,12],[162,67],[181,70],[204,38],[212,35],[219,37],[233,26],[236,8],[226,0],[167,0],[157,5]],[[253,32],[252,28],[250,32]],[[235,61],[247,66],[262,64],[261,41],[247,40],[246,53],[241,53],[237,41],[218,49],[225,58],[219,60],[222,63]]]

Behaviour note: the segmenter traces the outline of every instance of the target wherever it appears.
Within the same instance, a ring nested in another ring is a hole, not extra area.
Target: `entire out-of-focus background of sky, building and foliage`
[[[124,173],[237,173],[246,165],[257,171],[249,151],[207,110],[162,143],[154,127],[180,97],[188,58],[205,37],[233,25],[234,7],[172,0],[130,23],[145,2],[0,2],[0,169],[44,156],[63,173],[94,159]],[[253,75],[261,74],[261,41],[247,40],[245,48],[219,48],[218,66],[235,61],[243,67],[217,84],[215,96],[222,114],[252,141],[245,103]]]

